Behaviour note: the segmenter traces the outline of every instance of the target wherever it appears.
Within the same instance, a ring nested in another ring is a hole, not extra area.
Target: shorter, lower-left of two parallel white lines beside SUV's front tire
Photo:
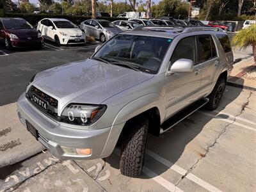
[[[116,154],[117,156],[120,156],[120,149],[115,148],[114,149],[114,154]],[[175,185],[173,185],[171,182],[169,182],[168,180],[164,179],[160,175],[157,175],[157,173],[155,173],[152,170],[148,169],[146,166],[143,166],[142,172],[145,173],[145,175],[147,175],[148,177],[152,177],[152,179],[154,181],[156,181],[158,184],[160,184],[164,188],[168,189],[168,191],[172,191],[172,192],[180,191],[180,192],[182,192],[182,190],[177,188],[177,187],[176,187],[176,190],[175,190]]]

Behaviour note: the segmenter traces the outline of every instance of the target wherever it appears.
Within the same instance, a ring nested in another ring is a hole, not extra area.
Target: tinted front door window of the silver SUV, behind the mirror
[[[182,38],[176,45],[172,54],[171,63],[173,64],[179,59],[189,59],[196,63],[195,36]]]

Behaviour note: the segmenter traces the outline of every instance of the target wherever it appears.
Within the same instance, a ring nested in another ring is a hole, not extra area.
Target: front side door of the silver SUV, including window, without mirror
[[[194,61],[193,72],[177,73],[166,77],[166,118],[188,106],[200,97],[201,65],[196,65],[196,38],[188,36],[182,38],[176,45],[169,68],[179,59]]]

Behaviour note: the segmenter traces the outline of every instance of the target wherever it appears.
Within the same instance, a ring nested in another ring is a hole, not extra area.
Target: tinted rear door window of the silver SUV
[[[207,60],[211,60],[211,36],[199,35],[197,36],[197,49],[198,49],[198,62],[202,63]]]

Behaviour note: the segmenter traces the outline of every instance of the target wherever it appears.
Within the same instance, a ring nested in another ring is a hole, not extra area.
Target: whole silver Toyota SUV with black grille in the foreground
[[[214,30],[120,33],[91,58],[32,77],[19,118],[59,159],[108,157],[120,144],[121,173],[139,177],[148,132],[159,135],[204,105],[218,107],[233,54],[227,34]]]

